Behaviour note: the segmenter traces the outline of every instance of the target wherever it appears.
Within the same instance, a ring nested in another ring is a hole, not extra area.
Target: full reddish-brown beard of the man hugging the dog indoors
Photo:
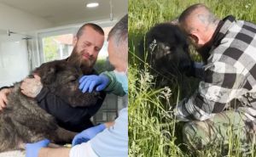
[[[85,52],[78,52],[77,48],[74,47],[71,55],[67,59],[67,61],[70,64],[73,64],[75,66],[79,66],[80,69],[83,71],[84,74],[90,74],[93,70],[93,66],[96,62],[95,59],[89,58],[89,59],[84,59],[83,53]]]

